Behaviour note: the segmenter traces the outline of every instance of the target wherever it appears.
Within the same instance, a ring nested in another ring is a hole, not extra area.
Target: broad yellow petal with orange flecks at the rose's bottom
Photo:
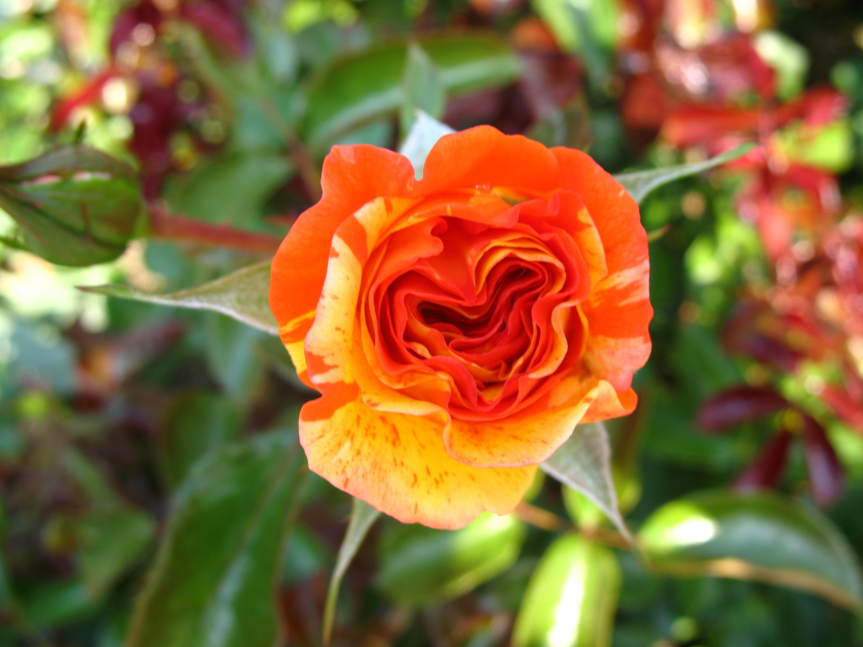
[[[336,487],[403,523],[434,528],[512,512],[536,471],[463,465],[446,453],[434,418],[370,409],[356,386],[326,386],[323,398],[307,403],[299,440],[309,468]]]

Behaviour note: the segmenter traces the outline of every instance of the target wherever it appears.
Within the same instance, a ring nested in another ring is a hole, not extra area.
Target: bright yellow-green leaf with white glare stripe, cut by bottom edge
[[[558,537],[527,585],[513,647],[608,647],[621,579],[614,550]]]

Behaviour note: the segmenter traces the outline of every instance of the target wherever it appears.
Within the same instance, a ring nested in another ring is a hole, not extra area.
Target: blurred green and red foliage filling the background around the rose
[[[350,500],[280,342],[75,286],[266,261],[331,145],[417,108],[611,172],[761,146],[642,204],[654,349],[608,425],[642,555],[551,479],[385,518],[333,644],[863,645],[861,50],[854,0],[0,0],[0,164],[116,158],[0,169],[0,645],[320,644]]]

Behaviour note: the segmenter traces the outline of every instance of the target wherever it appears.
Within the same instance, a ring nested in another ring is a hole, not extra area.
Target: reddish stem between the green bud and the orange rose
[[[256,254],[272,255],[281,239],[268,234],[255,234],[230,225],[202,223],[183,216],[174,216],[159,204],[148,206],[150,236],[164,240],[217,245]]]

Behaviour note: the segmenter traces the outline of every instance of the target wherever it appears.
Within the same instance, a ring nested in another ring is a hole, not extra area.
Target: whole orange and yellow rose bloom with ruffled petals
[[[518,505],[576,424],[633,411],[651,342],[639,210],[577,150],[479,126],[423,179],[337,146],[273,261],[309,467],[405,523]]]

